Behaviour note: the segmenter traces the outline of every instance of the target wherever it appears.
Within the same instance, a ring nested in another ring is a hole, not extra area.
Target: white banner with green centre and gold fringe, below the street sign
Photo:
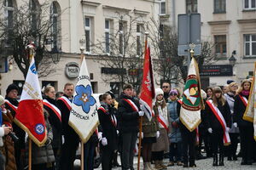
[[[183,92],[183,103],[180,110],[180,120],[190,132],[201,123],[201,85],[198,67],[192,57],[189,65],[187,82]]]

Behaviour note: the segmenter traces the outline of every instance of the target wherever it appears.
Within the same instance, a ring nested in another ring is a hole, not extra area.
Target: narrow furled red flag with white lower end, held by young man
[[[142,110],[148,116],[148,120],[151,121],[152,118],[152,104],[154,99],[154,77],[152,60],[150,56],[150,48],[148,42],[145,42],[145,55],[144,55],[144,66],[143,66],[143,82],[142,82],[142,92],[140,96],[140,103]]]

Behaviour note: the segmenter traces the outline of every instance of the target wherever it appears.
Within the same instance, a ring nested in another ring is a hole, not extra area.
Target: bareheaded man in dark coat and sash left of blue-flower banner
[[[75,133],[73,127],[68,125],[73,100],[73,88],[73,83],[67,82],[64,86],[64,95],[56,102],[61,111],[62,133],[64,135],[64,144],[61,146],[61,170],[73,169],[73,161],[79,146],[79,135]]]

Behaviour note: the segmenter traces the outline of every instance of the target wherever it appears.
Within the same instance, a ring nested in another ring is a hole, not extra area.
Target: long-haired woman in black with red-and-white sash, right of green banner
[[[230,144],[230,106],[224,98],[223,91],[219,87],[213,88],[212,98],[207,100],[206,103],[207,130],[212,137],[212,166],[224,166],[224,145]]]

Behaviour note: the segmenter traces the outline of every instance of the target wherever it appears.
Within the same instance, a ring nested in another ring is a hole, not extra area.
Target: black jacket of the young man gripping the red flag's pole
[[[125,99],[131,99],[137,108],[140,109],[138,100],[126,96],[125,94],[120,95],[119,100],[119,130],[121,133],[137,133],[139,115],[137,111],[134,111]]]

